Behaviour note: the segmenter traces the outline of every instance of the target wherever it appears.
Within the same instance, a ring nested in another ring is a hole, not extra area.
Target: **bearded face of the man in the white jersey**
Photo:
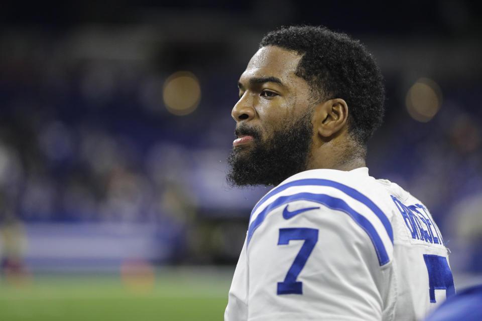
[[[228,158],[232,185],[277,185],[307,168],[313,141],[308,83],[295,75],[301,55],[263,47],[239,78]]]

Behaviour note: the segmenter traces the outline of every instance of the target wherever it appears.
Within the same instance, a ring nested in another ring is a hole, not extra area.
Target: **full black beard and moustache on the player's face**
[[[254,146],[233,148],[227,158],[227,181],[233,186],[278,185],[296,173],[306,171],[312,145],[312,113],[306,113],[284,129],[262,141],[261,131],[242,125],[238,134],[255,138]],[[250,148],[251,150],[246,150]]]

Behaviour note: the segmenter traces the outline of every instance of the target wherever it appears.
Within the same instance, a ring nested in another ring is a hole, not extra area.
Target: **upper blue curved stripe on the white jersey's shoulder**
[[[251,216],[255,213],[255,211],[263,205],[264,202],[266,202],[267,199],[272,197],[273,195],[284,191],[290,187],[293,186],[303,186],[303,185],[317,185],[317,186],[329,186],[333,187],[337,190],[340,190],[341,192],[345,193],[346,195],[352,197],[353,199],[357,200],[358,202],[361,202],[365,204],[369,209],[375,213],[375,215],[380,219],[382,222],[383,226],[385,227],[385,230],[387,230],[387,234],[390,237],[390,240],[393,243],[393,229],[392,229],[392,224],[390,223],[388,217],[382,212],[382,210],[368,197],[363,195],[362,193],[358,192],[354,188],[348,187],[346,185],[343,185],[341,183],[335,182],[335,181],[330,181],[330,180],[324,180],[324,179],[304,179],[304,180],[298,180],[298,181],[293,181],[286,183],[284,185],[281,185],[275,189],[273,189],[271,192],[266,194],[255,206],[253,211],[251,211]],[[251,222],[251,218],[250,218]]]

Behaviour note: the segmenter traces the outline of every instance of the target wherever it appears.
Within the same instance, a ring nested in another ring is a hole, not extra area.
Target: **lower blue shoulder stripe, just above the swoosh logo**
[[[384,265],[389,262],[390,259],[387,254],[387,250],[385,249],[385,245],[383,244],[382,239],[378,235],[377,230],[372,223],[370,223],[365,216],[359,214],[349,207],[348,204],[346,204],[343,200],[326,194],[298,193],[289,196],[280,196],[273,203],[269,204],[263,211],[261,211],[258,217],[256,217],[256,219],[251,223],[248,229],[247,246],[250,244],[253,233],[261,225],[261,223],[263,223],[269,212],[282,205],[301,200],[316,202],[332,210],[342,211],[348,214],[363,230],[365,230],[372,240],[380,265]]]

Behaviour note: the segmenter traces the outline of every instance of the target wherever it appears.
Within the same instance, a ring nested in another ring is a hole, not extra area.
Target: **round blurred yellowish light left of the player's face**
[[[191,72],[178,71],[166,79],[163,98],[167,110],[174,115],[190,114],[201,99],[199,80]]]

